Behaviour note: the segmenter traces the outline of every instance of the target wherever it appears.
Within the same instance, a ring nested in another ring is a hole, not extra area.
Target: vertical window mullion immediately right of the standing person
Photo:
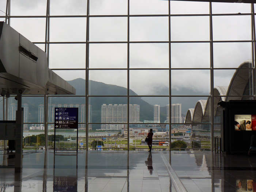
[[[172,65],[171,65],[171,8],[170,1],[168,2],[168,48],[169,48],[169,151],[172,149]],[[171,162],[170,162],[171,163]]]

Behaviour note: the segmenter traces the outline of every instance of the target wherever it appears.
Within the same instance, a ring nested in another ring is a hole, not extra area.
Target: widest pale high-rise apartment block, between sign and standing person
[[[139,123],[140,106],[137,104],[129,105],[129,122]],[[127,104],[102,104],[101,123],[127,123]],[[118,130],[123,128],[120,124],[102,124],[101,129]]]

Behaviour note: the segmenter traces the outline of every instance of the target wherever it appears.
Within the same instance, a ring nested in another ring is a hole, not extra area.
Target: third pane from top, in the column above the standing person
[[[130,44],[130,68],[168,67],[168,44]]]

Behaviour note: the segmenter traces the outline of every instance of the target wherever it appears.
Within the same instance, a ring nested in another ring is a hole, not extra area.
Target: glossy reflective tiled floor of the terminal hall
[[[0,192],[256,191],[256,155],[210,151],[57,152],[24,151],[22,174],[15,174],[14,155],[1,151]]]

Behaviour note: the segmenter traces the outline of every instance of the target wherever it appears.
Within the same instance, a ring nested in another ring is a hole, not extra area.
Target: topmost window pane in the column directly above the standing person
[[[168,1],[130,0],[130,15],[168,14]]]

